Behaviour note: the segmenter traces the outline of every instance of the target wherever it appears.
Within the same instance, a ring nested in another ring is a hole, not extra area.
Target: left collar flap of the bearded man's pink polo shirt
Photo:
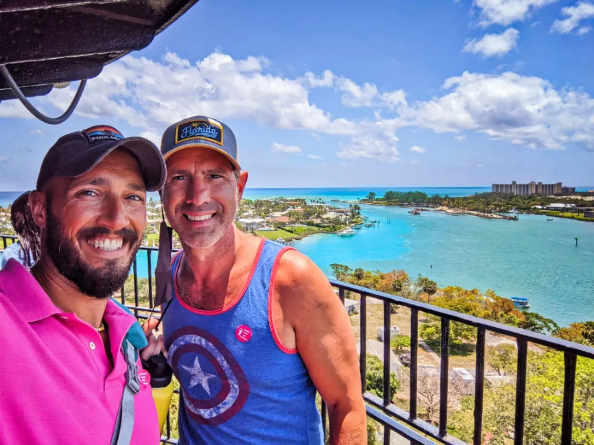
[[[14,258],[0,271],[0,292],[10,298],[28,323],[62,313],[34,276]]]

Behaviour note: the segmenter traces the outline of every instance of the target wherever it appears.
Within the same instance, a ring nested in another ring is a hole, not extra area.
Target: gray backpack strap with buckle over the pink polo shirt
[[[111,445],[130,445],[132,429],[134,428],[134,394],[138,394],[140,391],[138,366],[135,359],[136,350],[128,339],[124,339],[122,350],[128,369],[126,370],[126,385],[123,387]]]

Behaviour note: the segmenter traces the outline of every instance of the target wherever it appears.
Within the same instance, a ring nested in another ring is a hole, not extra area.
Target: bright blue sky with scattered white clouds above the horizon
[[[0,191],[66,132],[157,142],[198,114],[235,131],[248,187],[594,185],[590,27],[592,0],[201,0],[67,123],[0,104]],[[74,88],[34,103],[59,115]]]

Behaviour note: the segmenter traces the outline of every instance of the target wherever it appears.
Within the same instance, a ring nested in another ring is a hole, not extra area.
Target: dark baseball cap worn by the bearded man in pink
[[[37,190],[43,189],[51,178],[84,175],[120,147],[138,161],[147,191],[163,187],[167,167],[154,143],[141,137],[125,138],[121,132],[108,125],[95,125],[82,132],[66,134],[56,141],[41,163]]]

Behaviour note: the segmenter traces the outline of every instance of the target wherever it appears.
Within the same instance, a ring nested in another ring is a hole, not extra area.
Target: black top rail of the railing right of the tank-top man
[[[531,330],[525,330],[516,328],[514,326],[508,326],[506,324],[491,322],[484,320],[479,317],[473,317],[472,315],[466,315],[460,312],[450,311],[449,309],[442,309],[438,306],[431,306],[431,304],[409,300],[408,298],[391,295],[390,293],[384,293],[361,287],[357,285],[351,285],[348,282],[342,282],[334,279],[330,279],[330,284],[334,287],[342,287],[347,291],[355,293],[363,293],[366,296],[372,298],[378,298],[379,300],[388,300],[394,304],[400,304],[401,306],[408,307],[409,309],[418,309],[418,311],[429,313],[431,315],[437,315],[438,317],[446,317],[454,322],[461,322],[471,326],[482,327],[486,330],[492,330],[493,332],[510,335],[511,337],[526,339],[532,343],[539,344],[541,346],[547,346],[548,348],[554,348],[563,352],[572,352],[573,354],[581,357],[587,357],[594,359],[594,348],[590,346],[580,345],[571,341],[558,339],[556,337],[550,337],[548,335],[534,333]]]

